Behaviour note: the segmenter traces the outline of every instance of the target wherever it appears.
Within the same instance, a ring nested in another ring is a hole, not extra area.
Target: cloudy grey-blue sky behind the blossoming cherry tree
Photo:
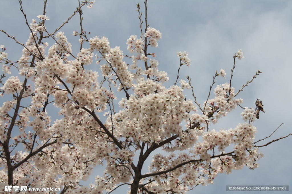
[[[137,3],[140,3],[144,19],[143,1],[96,0],[92,9],[84,7],[83,27],[86,32],[91,32],[88,37],[105,36],[112,48],[120,46],[123,53],[129,55],[127,39],[131,35],[140,36]],[[29,37],[29,29],[19,10],[18,1],[2,0],[0,5],[0,28],[19,42],[25,43]],[[43,1],[23,1],[22,6],[29,23],[43,13]],[[58,28],[72,15],[77,6],[76,0],[48,0],[46,16],[50,20],[46,21],[46,28],[49,31]],[[262,72],[239,94],[244,100],[243,107],[255,108],[256,99],[263,102],[265,113],[261,112],[260,119],[254,123],[258,130],[255,140],[269,136],[281,123],[284,124],[272,137],[258,145],[291,133],[292,1],[149,0],[147,6],[149,27],[159,30],[162,34],[158,47],[151,47],[149,52],[156,54],[159,70],[168,73],[170,80],[165,87],[172,86],[175,82],[179,67],[177,52],[186,51],[191,65],[181,67],[179,80],[186,80],[189,75],[197,101],[203,104],[215,71],[219,72],[222,68],[227,73],[226,79],[216,78],[215,85],[229,82],[233,55],[242,49],[244,58],[236,60],[232,78],[235,91],[251,80],[257,70]],[[60,31],[65,32],[68,41],[73,45],[73,53],[77,53],[80,48],[79,38],[72,36],[72,32],[80,31],[79,16],[75,15]],[[51,46],[53,41],[48,43]],[[22,47],[4,33],[0,33],[0,44],[5,45],[9,59],[16,61],[21,57]],[[88,47],[84,45],[86,46]],[[99,71],[99,66],[95,65],[93,70]],[[211,97],[212,95],[213,93]],[[193,100],[191,91],[186,91],[186,97]],[[234,129],[238,123],[244,122],[240,116],[242,110],[237,107],[211,127],[216,130]],[[57,117],[52,115],[52,118]],[[227,185],[292,186],[291,138],[292,136],[289,136],[267,147],[261,147],[260,151],[264,153],[264,157],[259,161],[259,168],[249,170],[245,167],[243,170],[234,170],[230,175],[219,174],[214,184],[197,186],[189,193],[236,193],[227,192]],[[96,175],[102,175],[102,168],[96,167],[88,181],[82,184],[94,182]],[[127,186],[113,193],[126,193],[126,190]],[[253,193],[265,192],[249,192]]]

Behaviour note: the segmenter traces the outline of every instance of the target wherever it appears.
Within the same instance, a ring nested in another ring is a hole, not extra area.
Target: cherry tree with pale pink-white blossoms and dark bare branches
[[[232,87],[236,60],[244,58],[241,50],[233,56],[229,82],[215,86],[217,76],[227,75],[223,69],[216,71],[201,105],[191,78],[178,79],[181,68],[190,65],[186,51],[178,52],[176,79],[159,71],[149,49],[158,47],[162,35],[147,23],[147,0],[144,21],[137,5],[141,34],[127,40],[128,55],[119,47],[111,48],[106,37],[84,30],[81,8],[92,8],[94,1],[79,1],[77,10],[54,31],[45,26],[47,0],[43,14],[30,24],[19,3],[29,39],[23,44],[1,30],[23,47],[22,57],[13,62],[9,50],[0,45],[5,73],[0,92],[10,98],[0,108],[1,193],[7,185],[59,187],[61,193],[112,193],[125,184],[131,194],[187,193],[199,184],[212,184],[218,173],[229,174],[245,165],[257,168],[263,157],[259,147],[292,135],[264,145],[259,142],[271,135],[254,141],[253,123],[264,111],[263,102],[255,99],[255,109],[243,107],[239,93],[261,72],[238,91]],[[80,36],[77,54],[60,31],[74,15],[80,16],[80,31],[73,31]],[[55,42],[48,49],[46,39]],[[99,74],[90,70],[94,60],[101,64]],[[11,71],[19,76],[8,76]],[[174,85],[166,88],[166,81]],[[193,100],[186,99],[187,90]],[[54,122],[46,111],[50,106],[59,110]],[[244,122],[234,129],[213,129],[237,107],[243,109]],[[149,157],[153,160],[146,164]],[[96,176],[95,184],[79,184],[94,166],[104,164],[104,175]],[[143,174],[145,166],[149,171]]]

